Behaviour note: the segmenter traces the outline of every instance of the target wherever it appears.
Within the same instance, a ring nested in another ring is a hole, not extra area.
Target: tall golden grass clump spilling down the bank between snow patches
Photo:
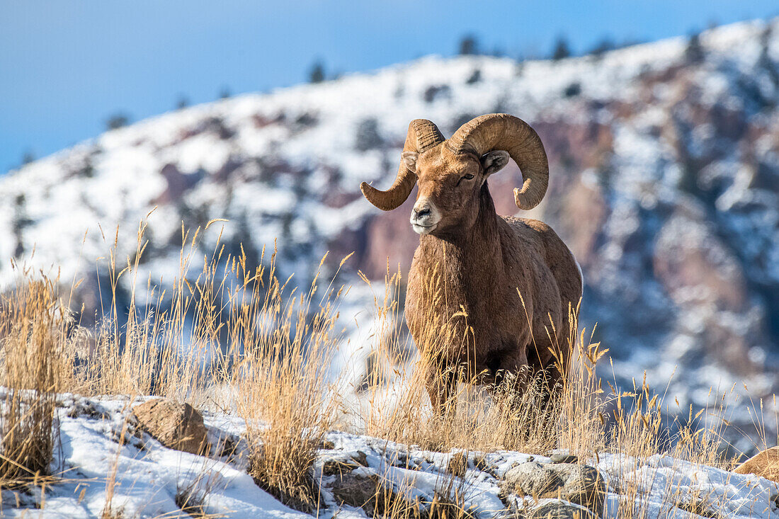
[[[324,260],[324,259],[323,259]],[[240,358],[231,383],[252,441],[249,472],[287,505],[311,512],[319,504],[312,478],[316,449],[330,429],[335,401],[327,391],[336,312],[331,302],[312,311],[316,280],[305,294],[284,295],[284,284],[258,271],[231,330],[240,330]],[[260,293],[265,289],[265,295]],[[336,295],[337,296],[337,295]],[[233,344],[238,344],[234,341]]]

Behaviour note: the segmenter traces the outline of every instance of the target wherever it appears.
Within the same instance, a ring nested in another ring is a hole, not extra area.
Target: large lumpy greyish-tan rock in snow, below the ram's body
[[[597,469],[589,465],[529,461],[506,472],[500,492],[504,496],[513,493],[536,499],[559,498],[600,515],[606,485]]]

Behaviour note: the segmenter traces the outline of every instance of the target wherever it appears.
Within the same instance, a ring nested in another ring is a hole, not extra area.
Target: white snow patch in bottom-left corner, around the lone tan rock
[[[70,418],[65,410],[60,411],[60,442],[52,466],[62,467],[63,482],[47,490],[40,517],[100,517],[111,480],[115,485],[111,509],[121,510],[122,517],[181,514],[175,503],[178,489],[202,489],[206,510],[226,517],[310,517],[259,489],[240,464],[167,449],[148,436],[140,443],[126,430],[129,399],[78,401],[94,404],[108,419]],[[234,420],[221,422],[231,433],[242,432]],[[227,432],[210,429],[210,434],[220,433]],[[125,441],[118,443],[123,436]],[[36,513],[29,508],[9,508],[13,500],[6,499],[8,491],[3,496],[3,517]]]

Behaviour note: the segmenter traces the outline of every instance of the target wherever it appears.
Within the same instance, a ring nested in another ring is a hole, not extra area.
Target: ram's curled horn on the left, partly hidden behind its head
[[[408,132],[406,134],[406,143],[404,144],[404,151],[414,151],[422,153],[429,150],[432,147],[444,141],[441,132],[436,125],[427,119],[414,119],[411,124],[408,125]],[[380,191],[375,189],[366,182],[360,184],[360,190],[368,202],[375,205],[381,210],[389,211],[396,209],[401,203],[404,203],[408,196],[411,194],[411,189],[414,189],[414,184],[417,182],[417,175],[414,171],[409,171],[406,168],[404,161],[400,161],[400,168],[397,170],[397,178],[395,182],[386,191]]]

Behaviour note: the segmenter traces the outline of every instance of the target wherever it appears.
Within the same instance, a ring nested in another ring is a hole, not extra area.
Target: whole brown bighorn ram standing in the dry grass
[[[428,394],[442,414],[453,413],[457,380],[494,384],[530,366],[545,370],[555,384],[567,369],[569,305],[575,308],[582,295],[581,271],[547,224],[495,214],[487,180],[509,157],[524,178],[514,189],[516,207],[531,209],[547,189],[546,153],[530,125],[506,114],[474,118],[449,139],[432,122],[415,119],[390,189],[360,185],[365,198],[386,211],[418,185],[411,226],[420,238],[408,276],[407,324],[422,348],[432,315],[459,323],[428,362]],[[428,282],[435,269],[444,292],[438,298]]]

